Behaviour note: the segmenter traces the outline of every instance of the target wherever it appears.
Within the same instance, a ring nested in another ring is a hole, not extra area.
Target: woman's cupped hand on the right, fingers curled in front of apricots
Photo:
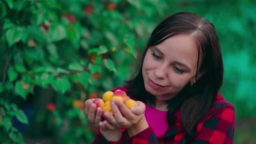
[[[115,100],[111,102],[114,115],[106,112],[103,117],[116,128],[129,128],[141,120],[145,113],[145,104],[141,101],[136,102],[137,106],[128,109],[123,102]]]

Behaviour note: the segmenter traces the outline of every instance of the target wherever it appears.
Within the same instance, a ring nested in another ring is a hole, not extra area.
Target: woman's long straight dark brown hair
[[[153,30],[138,63],[138,71],[133,79],[125,82],[125,87],[128,89],[128,95],[147,104],[155,104],[155,97],[144,87],[142,77],[144,57],[150,46],[159,45],[176,34],[191,34],[194,37],[198,48],[196,76],[198,70],[206,71],[193,86],[188,83],[178,95],[167,101],[169,102],[168,123],[173,124],[172,114],[179,108],[184,132],[189,137],[193,137],[196,134],[196,124],[207,116],[223,80],[220,44],[214,25],[210,21],[191,12],[179,12],[165,18]],[[199,65],[199,56],[202,58],[201,65]]]

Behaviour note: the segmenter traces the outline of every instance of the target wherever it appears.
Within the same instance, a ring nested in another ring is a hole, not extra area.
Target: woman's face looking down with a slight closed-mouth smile
[[[142,66],[146,91],[161,101],[173,98],[189,82],[195,82],[197,55],[196,42],[188,34],[177,34],[150,47]]]

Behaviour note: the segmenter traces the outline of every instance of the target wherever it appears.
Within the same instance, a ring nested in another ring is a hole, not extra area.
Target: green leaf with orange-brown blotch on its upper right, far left
[[[15,83],[15,92],[20,95],[23,99],[27,99],[27,94],[30,91],[30,85],[25,82],[17,81]]]

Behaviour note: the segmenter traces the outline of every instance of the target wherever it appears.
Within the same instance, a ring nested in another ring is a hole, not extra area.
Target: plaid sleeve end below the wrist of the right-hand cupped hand
[[[127,131],[125,131],[124,141],[127,144],[160,144],[150,126],[133,137],[129,137]]]

